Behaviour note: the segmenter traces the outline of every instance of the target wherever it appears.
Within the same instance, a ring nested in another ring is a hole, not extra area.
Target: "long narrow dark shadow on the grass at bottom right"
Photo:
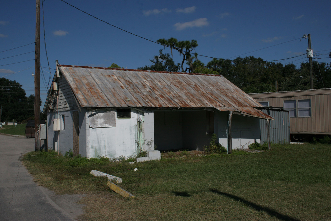
[[[290,216],[287,216],[287,215],[283,215],[273,209],[270,209],[268,207],[263,207],[263,206],[260,206],[254,202],[250,202],[244,198],[241,198],[239,196],[235,196],[235,195],[232,195],[232,194],[229,194],[229,193],[224,193],[224,192],[221,192],[221,191],[218,191],[216,189],[211,189],[210,190],[211,192],[213,193],[217,193],[217,194],[220,194],[220,195],[223,195],[223,196],[227,196],[229,198],[232,198],[234,200],[237,200],[239,202],[242,202],[242,203],[245,203],[246,205],[256,209],[257,211],[264,211],[264,212],[267,212],[269,215],[271,216],[274,216],[276,217],[277,219],[279,220],[284,220],[284,221],[300,221],[299,219],[295,219],[295,218],[292,218]]]

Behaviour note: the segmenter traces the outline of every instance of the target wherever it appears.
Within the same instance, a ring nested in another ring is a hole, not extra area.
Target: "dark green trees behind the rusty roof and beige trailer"
[[[178,41],[169,38],[159,39],[158,43],[164,45],[165,49],[169,47],[171,56],[161,49],[159,55],[150,60],[152,65],[137,69],[219,74],[246,93],[272,92],[276,91],[276,86],[278,91],[310,89],[309,63],[301,63],[300,67],[297,67],[294,64],[283,65],[280,62],[269,62],[260,57],[248,56],[237,57],[234,60],[213,58],[204,64],[198,59],[198,54],[193,53],[198,46],[195,40]],[[179,53],[181,62],[173,61],[173,51]],[[314,61],[312,70],[314,89],[331,87],[331,64]]]

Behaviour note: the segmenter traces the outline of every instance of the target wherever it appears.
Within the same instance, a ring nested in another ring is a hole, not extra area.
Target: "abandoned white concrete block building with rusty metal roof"
[[[272,120],[221,75],[59,65],[45,102],[48,148],[121,158],[141,150],[203,150],[260,142]],[[151,154],[152,151],[151,151]]]

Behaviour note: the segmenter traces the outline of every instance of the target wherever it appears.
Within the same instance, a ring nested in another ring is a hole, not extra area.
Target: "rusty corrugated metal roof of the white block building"
[[[272,119],[221,75],[58,65],[81,107],[216,108]]]

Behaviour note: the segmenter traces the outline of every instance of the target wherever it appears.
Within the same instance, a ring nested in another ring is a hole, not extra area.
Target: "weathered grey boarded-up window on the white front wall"
[[[90,128],[116,127],[115,111],[96,110],[88,115]]]

